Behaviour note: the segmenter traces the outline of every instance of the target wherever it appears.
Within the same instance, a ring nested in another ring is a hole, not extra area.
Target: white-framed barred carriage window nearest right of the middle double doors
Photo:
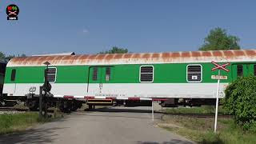
[[[141,66],[140,82],[153,82],[154,81],[154,67]]]

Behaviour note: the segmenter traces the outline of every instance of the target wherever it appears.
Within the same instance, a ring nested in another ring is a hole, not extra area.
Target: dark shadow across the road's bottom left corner
[[[8,144],[8,143],[46,143],[46,142],[54,142],[54,136],[58,134],[54,134],[54,130],[65,129],[52,127],[50,129],[34,129],[27,130],[17,134],[5,134],[0,136],[0,143]]]

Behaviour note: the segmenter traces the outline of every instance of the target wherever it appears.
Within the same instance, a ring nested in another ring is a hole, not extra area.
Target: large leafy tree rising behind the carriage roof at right
[[[225,29],[217,27],[210,30],[199,50],[239,50],[239,41],[238,37],[229,35]]]

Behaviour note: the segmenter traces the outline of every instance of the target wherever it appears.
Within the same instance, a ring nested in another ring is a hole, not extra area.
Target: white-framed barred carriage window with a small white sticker
[[[202,82],[202,66],[188,65],[186,70],[187,82]]]

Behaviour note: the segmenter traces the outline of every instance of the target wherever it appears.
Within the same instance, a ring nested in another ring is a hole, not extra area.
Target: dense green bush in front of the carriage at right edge
[[[234,114],[234,120],[244,130],[256,123],[256,77],[238,78],[225,90],[224,108]]]

